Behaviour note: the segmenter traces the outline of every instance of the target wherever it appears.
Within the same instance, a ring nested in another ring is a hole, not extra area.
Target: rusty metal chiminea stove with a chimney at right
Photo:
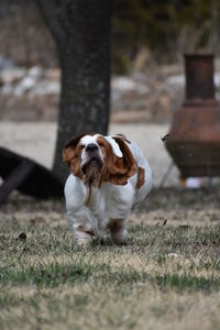
[[[220,176],[220,106],[213,55],[185,55],[186,99],[174,116],[166,147],[180,177]]]

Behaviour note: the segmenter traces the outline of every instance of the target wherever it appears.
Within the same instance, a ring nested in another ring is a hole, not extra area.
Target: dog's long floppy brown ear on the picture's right
[[[119,148],[122,153],[122,157],[117,156],[112,150],[107,157],[107,180],[111,182],[114,185],[124,186],[128,183],[128,178],[135,174],[136,166],[134,157],[120,136],[112,136],[112,139],[119,145]]]

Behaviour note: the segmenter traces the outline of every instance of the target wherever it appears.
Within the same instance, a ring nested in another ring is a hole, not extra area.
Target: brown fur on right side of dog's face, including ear
[[[119,144],[123,157],[118,157],[112,152],[112,147],[105,136],[100,135],[97,139],[97,143],[101,147],[105,160],[99,186],[101,186],[102,182],[110,182],[114,185],[124,186],[128,183],[128,178],[134,175],[136,172],[135,161],[129,146],[125,144],[122,138],[114,136],[113,139]]]

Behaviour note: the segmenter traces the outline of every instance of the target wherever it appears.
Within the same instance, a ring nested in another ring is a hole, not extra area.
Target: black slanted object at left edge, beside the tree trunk
[[[63,184],[54,174],[40,164],[0,147],[0,205],[7,200],[12,190],[37,197],[62,197]]]

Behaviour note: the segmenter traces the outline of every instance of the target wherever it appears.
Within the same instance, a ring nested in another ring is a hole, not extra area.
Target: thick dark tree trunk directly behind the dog
[[[110,108],[111,0],[38,0],[62,68],[53,170],[66,177],[65,142],[81,132],[107,134]]]

